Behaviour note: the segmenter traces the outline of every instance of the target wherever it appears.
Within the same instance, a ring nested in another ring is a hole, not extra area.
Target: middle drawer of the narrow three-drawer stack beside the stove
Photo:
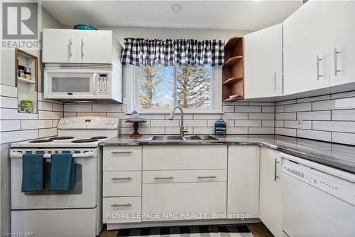
[[[103,196],[141,196],[141,172],[104,172]]]

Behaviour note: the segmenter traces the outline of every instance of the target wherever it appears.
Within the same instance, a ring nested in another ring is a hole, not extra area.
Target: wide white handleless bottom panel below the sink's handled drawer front
[[[143,184],[143,221],[176,221],[217,218],[226,214],[226,182]],[[187,216],[187,214],[206,216]],[[174,214],[169,216],[169,214]]]

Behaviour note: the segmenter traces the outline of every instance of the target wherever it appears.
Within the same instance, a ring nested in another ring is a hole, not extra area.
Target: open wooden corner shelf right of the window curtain
[[[222,68],[222,100],[234,102],[244,99],[244,38],[231,38],[224,46]]]

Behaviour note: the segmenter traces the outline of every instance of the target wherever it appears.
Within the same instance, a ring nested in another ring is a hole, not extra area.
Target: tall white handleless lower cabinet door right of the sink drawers
[[[249,218],[258,218],[259,159],[258,146],[228,147],[229,218],[246,214]]]

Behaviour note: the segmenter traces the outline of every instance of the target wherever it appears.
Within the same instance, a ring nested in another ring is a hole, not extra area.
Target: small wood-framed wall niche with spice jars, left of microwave
[[[31,80],[18,74],[18,65],[31,70]],[[21,49],[15,49],[15,86],[17,87],[18,112],[37,113],[38,109],[38,57]],[[30,102],[31,101],[31,102]],[[21,105],[22,104],[22,105]],[[32,106],[31,106],[32,104]]]

